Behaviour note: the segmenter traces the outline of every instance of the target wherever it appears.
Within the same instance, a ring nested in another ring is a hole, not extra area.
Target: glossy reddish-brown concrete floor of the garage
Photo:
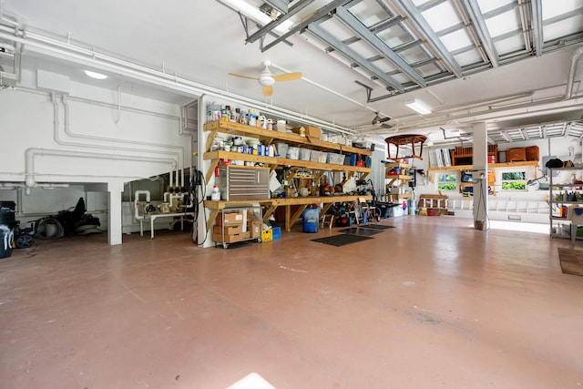
[[[569,241],[382,223],[396,228],[341,248],[298,229],[228,250],[171,231],[15,250],[0,260],[0,386],[226,388],[251,372],[280,389],[583,385],[583,277],[557,258]]]

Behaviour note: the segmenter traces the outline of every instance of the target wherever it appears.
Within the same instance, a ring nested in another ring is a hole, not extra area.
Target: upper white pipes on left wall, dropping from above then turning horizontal
[[[73,147],[82,147],[82,148],[105,148],[105,149],[111,149],[112,147],[108,147],[108,146],[102,146],[102,145],[89,145],[89,144],[84,144],[84,143],[75,143],[75,142],[66,142],[65,140],[59,138],[59,130],[58,130],[58,118],[59,118],[59,108],[58,108],[58,101],[57,101],[57,97],[56,94],[54,92],[51,92],[51,101],[53,103],[53,126],[54,126],[54,131],[53,131],[53,138],[55,139],[56,143],[58,145],[61,146],[73,146]],[[64,107],[64,128],[65,128],[65,133],[67,136],[71,137],[71,138],[84,138],[84,139],[92,139],[92,140],[103,140],[103,141],[109,141],[109,142],[114,142],[117,141],[115,139],[110,139],[110,138],[103,138],[103,137],[95,137],[95,136],[88,136],[88,135],[80,135],[80,134],[74,134],[73,132],[71,132],[70,130],[70,124],[69,124],[69,105],[67,102],[67,98],[65,95],[62,96],[62,101],[63,101],[63,107]],[[131,141],[131,140],[120,140],[119,142],[124,142],[124,143],[130,143],[130,144],[136,144],[136,145],[141,145],[141,146],[160,146],[160,145],[156,145],[153,143],[148,143],[148,142],[140,142],[140,141]],[[182,164],[184,163],[184,150],[183,148],[176,146],[169,146],[172,148],[177,148],[179,150],[179,152],[171,152],[171,151],[159,151],[159,150],[151,150],[151,149],[139,149],[139,148],[119,148],[119,147],[115,147],[116,150],[119,151],[130,151],[130,152],[146,152],[146,153],[155,153],[155,154],[165,154],[165,155],[174,155],[176,157],[175,160],[177,161],[181,161]],[[183,166],[182,164],[180,164],[180,166]],[[177,165],[178,167],[178,165]],[[178,169],[178,168],[177,168]],[[177,170],[178,172],[178,170]],[[177,173],[178,175],[178,173]],[[177,177],[178,179],[178,177]],[[173,174],[172,171],[170,172],[170,187],[173,185]]]

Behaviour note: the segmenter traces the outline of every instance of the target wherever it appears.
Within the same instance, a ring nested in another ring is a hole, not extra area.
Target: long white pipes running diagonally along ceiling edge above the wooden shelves
[[[292,120],[308,121],[315,126],[321,127],[322,129],[353,133],[351,128],[337,126],[320,118],[304,116],[298,114],[297,112],[293,112],[292,110],[281,107],[270,107],[268,104],[258,100],[241,97],[216,87],[204,86],[189,79],[178,77],[176,75],[169,75],[165,72],[161,72],[152,68],[141,67],[113,56],[106,56],[93,50],[73,46],[70,43],[61,42],[56,39],[41,36],[28,31],[26,32],[26,36],[24,31],[19,33],[20,34],[15,36],[15,31],[12,28],[0,26],[0,38],[20,42],[26,45],[28,49],[32,51],[40,51],[50,56],[76,62],[77,64],[99,67],[106,71],[117,73],[120,76],[136,78],[149,82],[153,85],[167,87],[170,90],[181,91],[194,96],[209,94],[217,98],[230,99],[234,103],[239,103],[241,105],[263,108],[273,115],[290,118]]]

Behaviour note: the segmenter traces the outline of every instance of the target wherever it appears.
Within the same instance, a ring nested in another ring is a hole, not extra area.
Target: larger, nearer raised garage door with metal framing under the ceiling
[[[389,93],[468,77],[583,41],[583,1],[266,0],[279,16],[248,37],[261,51],[286,37],[316,37]],[[292,28],[273,38],[285,20]]]

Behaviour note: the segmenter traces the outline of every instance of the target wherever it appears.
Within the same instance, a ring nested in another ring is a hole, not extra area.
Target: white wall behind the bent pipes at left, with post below
[[[19,200],[23,219],[74,207],[83,197],[105,230],[107,188],[116,188],[111,196],[120,202],[125,182],[191,166],[196,138],[180,128],[178,105],[133,95],[130,83],[120,94],[73,82],[66,89],[65,100],[63,90],[51,96],[36,87],[36,73],[23,72],[22,87],[0,91],[0,185],[23,186],[28,176],[30,187],[0,190],[0,200]],[[55,183],[70,187],[41,188]],[[121,207],[113,211],[120,215]]]

